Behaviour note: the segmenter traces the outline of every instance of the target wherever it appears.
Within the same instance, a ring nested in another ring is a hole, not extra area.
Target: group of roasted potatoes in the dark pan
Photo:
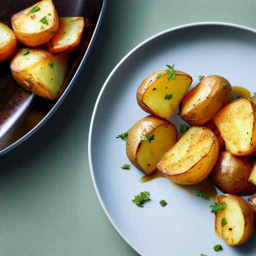
[[[84,18],[58,17],[52,0],[41,0],[12,15],[11,25],[0,22],[0,63],[15,53],[10,61],[14,79],[39,96],[57,98],[64,89],[69,52],[81,40]],[[18,41],[21,47],[16,50]]]

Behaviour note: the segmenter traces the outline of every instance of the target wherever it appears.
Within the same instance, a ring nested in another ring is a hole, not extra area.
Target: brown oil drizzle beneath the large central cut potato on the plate
[[[144,175],[139,179],[139,182],[148,182],[155,178],[163,178],[165,177],[159,170],[155,170],[152,173],[148,175]],[[173,183],[173,186],[179,187],[185,191],[187,191],[189,194],[196,193],[196,191],[202,191],[205,194],[207,194],[209,197],[216,199],[217,198],[217,190],[215,186],[211,183],[211,181],[206,178],[202,182],[194,184],[194,185],[180,185]]]

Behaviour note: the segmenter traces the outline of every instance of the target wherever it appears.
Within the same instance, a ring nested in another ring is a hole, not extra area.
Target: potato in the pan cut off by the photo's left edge
[[[0,22],[0,63],[8,60],[17,48],[17,39],[10,28]]]

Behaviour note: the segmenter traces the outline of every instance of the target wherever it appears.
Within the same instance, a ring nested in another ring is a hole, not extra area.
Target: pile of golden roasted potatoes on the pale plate
[[[150,115],[128,131],[126,153],[146,174],[158,169],[178,184],[206,177],[224,192],[216,203],[215,230],[228,245],[246,242],[254,231],[256,195],[248,201],[237,194],[256,192],[256,97],[231,100],[231,85],[209,75],[186,91],[189,74],[173,66],[148,75],[137,89],[138,105]],[[168,119],[179,107],[187,130],[177,139]],[[225,219],[223,225],[223,219]]]

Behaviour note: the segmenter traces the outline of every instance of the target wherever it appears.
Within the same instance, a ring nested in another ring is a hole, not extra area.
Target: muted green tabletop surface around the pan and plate
[[[98,92],[147,37],[197,21],[255,27],[255,9],[255,0],[108,0],[92,52],[63,104],[1,156],[0,255],[137,255],[105,216],[89,173],[88,129]]]

